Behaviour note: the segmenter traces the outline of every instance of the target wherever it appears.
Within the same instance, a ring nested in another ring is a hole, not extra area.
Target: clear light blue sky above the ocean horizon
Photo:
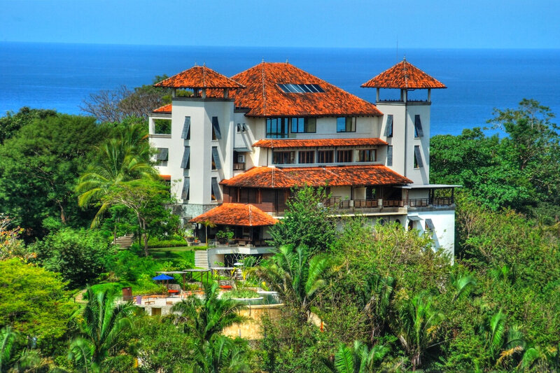
[[[2,0],[0,41],[560,48],[558,0]]]

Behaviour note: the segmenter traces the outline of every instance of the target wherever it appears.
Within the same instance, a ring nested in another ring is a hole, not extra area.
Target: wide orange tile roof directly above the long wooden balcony
[[[253,167],[222,185],[247,188],[293,188],[295,186],[397,185],[412,183],[382,164],[329,167]]]

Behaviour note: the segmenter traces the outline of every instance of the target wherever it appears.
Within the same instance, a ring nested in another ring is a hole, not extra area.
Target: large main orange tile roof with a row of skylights
[[[381,115],[374,104],[288,63],[262,62],[232,76],[246,86],[232,92],[235,106],[249,108],[247,116]],[[318,84],[325,92],[288,93],[278,84]]]

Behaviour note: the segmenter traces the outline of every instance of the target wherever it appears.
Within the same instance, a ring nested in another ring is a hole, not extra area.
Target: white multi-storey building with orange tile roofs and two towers
[[[160,174],[186,221],[232,227],[246,246],[231,253],[264,253],[269,218],[304,184],[328,185],[334,214],[428,231],[454,253],[457,185],[429,184],[430,90],[445,86],[406,60],[362,85],[376,88],[376,104],[288,63],[231,78],[194,66],[156,86],[194,92],[151,115]],[[381,99],[388,89],[400,98]],[[411,90],[426,98],[408,99]]]

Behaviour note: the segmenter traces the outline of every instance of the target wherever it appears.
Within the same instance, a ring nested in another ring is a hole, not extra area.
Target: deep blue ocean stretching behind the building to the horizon
[[[206,63],[226,76],[264,59],[288,60],[368,101],[360,88],[407,61],[447,85],[433,90],[431,134],[484,127],[493,108],[515,108],[530,98],[560,115],[560,50],[248,48],[155,45],[0,43],[0,113],[22,106],[79,114],[90,93],[150,84],[156,75]],[[415,94],[416,92],[414,92]]]

